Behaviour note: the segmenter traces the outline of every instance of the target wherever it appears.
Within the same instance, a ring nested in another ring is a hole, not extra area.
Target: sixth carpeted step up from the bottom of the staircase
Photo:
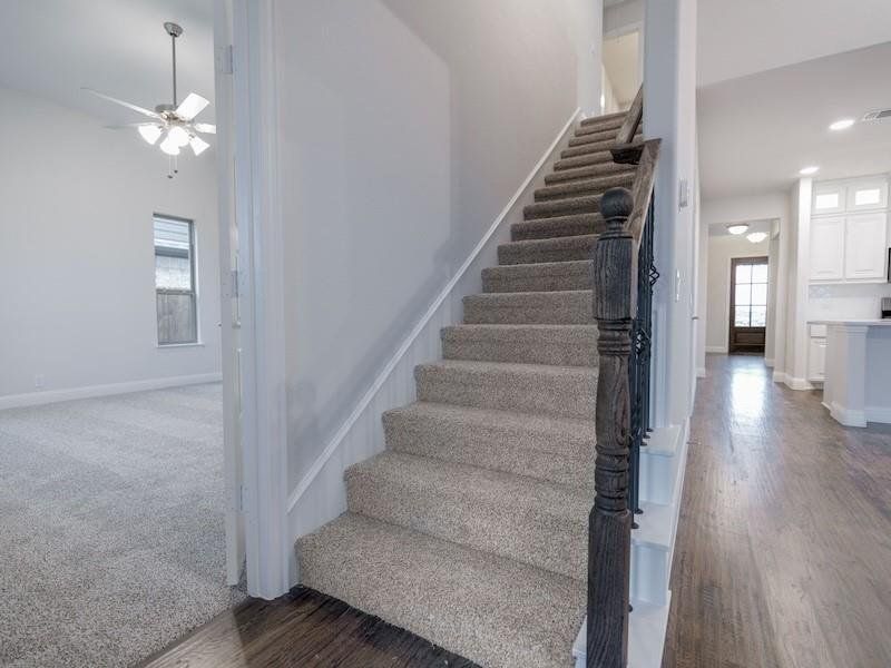
[[[464,323],[472,325],[594,324],[590,289],[481,293],[463,298]]]

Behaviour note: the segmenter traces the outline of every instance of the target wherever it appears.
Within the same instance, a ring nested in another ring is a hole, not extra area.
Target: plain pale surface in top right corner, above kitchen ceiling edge
[[[697,12],[699,86],[891,41],[889,0],[699,0]]]

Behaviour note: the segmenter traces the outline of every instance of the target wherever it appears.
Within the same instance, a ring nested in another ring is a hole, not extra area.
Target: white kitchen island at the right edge
[[[823,405],[846,426],[891,423],[891,318],[811,321],[826,326]]]

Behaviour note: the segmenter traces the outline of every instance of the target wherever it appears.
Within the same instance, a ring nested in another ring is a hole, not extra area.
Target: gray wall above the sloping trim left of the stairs
[[[598,104],[600,3],[281,0],[275,12],[293,487],[580,92]]]

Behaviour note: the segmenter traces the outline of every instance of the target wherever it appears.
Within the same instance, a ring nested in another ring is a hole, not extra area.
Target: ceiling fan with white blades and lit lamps
[[[172,105],[163,104],[157,105],[155,110],[146,109],[125,102],[117,98],[94,90],[92,88],[84,88],[84,90],[100,97],[121,107],[127,107],[133,111],[137,111],[143,116],[148,116],[151,120],[145,122],[131,122],[123,126],[108,126],[112,129],[121,128],[136,128],[139,135],[148,144],[155,145],[158,139],[161,139],[158,148],[165,154],[170,156],[170,173],[167,174],[168,178],[173,178],[176,169],[176,156],[179,155],[180,149],[186,146],[192,148],[192,151],[199,156],[210,146],[202,139],[198,135],[214,135],[216,134],[216,126],[209,122],[196,122],[195,117],[200,114],[210,102],[202,96],[189,92],[182,102],[177,104],[176,97],[176,38],[183,35],[183,28],[176,23],[164,23],[164,30],[170,36],[170,46],[173,48],[173,82],[174,82],[174,101]]]

